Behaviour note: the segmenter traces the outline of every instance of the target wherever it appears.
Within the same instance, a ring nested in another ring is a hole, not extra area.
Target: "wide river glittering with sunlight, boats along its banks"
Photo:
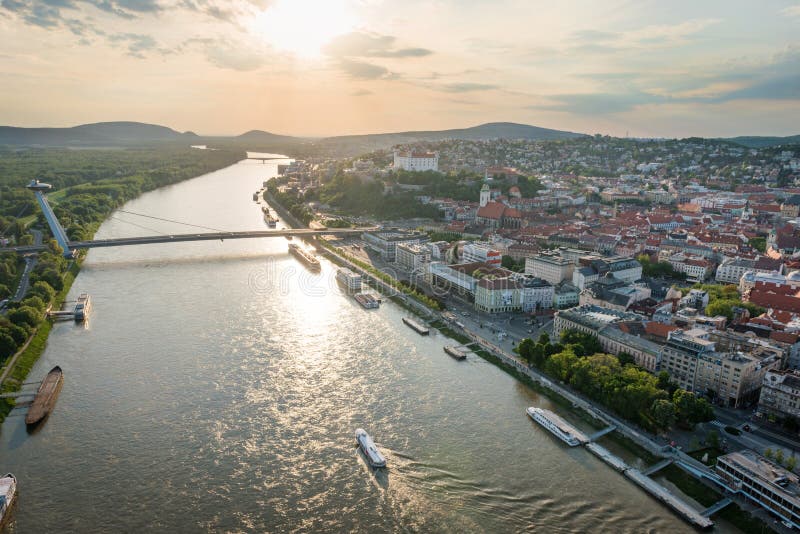
[[[243,161],[124,209],[263,229],[252,194],[275,171]],[[97,237],[194,231],[116,213]],[[11,528],[690,530],[529,420],[546,398],[480,358],[451,359],[394,305],[363,310],[323,263],[307,272],[283,238],[92,250],[71,293],[91,293],[90,321],[58,323],[30,376],[64,369],[54,412],[30,433],[18,409],[0,432],[0,468],[19,478]],[[386,471],[366,467],[357,427]]]

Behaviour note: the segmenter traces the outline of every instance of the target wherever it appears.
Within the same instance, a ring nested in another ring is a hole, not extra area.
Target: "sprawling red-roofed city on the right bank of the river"
[[[578,356],[616,356],[713,406],[681,424],[656,394],[627,419],[717,449],[730,488],[797,520],[800,147],[449,140],[297,160],[271,187],[305,223],[380,225],[332,244],[573,389],[589,391],[579,365],[537,357],[537,339],[584,336]]]

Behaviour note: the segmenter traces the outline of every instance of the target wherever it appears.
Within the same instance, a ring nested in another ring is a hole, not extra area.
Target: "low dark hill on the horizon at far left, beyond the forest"
[[[97,122],[72,128],[17,128],[0,126],[0,145],[118,146],[155,141],[192,141],[191,132],[141,122]]]

